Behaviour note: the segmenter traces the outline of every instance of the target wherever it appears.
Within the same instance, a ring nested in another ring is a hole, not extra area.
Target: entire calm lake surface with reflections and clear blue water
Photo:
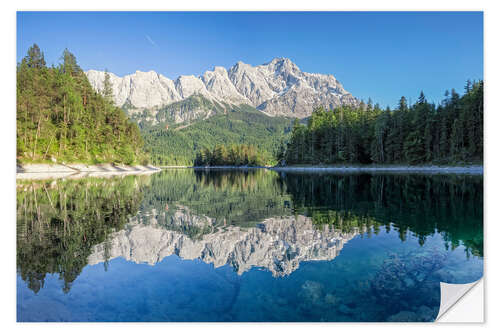
[[[18,321],[433,321],[482,275],[482,176],[17,182]]]

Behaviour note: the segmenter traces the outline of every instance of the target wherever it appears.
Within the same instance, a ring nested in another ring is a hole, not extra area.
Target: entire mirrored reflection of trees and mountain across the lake
[[[205,258],[237,272],[265,259],[260,266],[277,276],[303,260],[333,259],[341,246],[332,239],[372,237],[391,228],[402,241],[410,233],[421,244],[439,233],[443,246],[463,245],[467,255],[482,257],[482,203],[482,177],[464,175],[168,170],[143,177],[22,181],[17,269],[35,292],[54,273],[67,292],[89,257],[107,267],[110,258],[126,257],[116,252],[114,240],[146,227],[191,244],[187,251],[172,242],[164,255]],[[334,245],[335,255],[321,255]]]

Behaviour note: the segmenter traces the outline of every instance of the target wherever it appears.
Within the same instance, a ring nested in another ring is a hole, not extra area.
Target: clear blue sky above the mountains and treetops
[[[84,70],[171,79],[287,57],[384,107],[483,78],[481,12],[18,12],[18,61],[33,43],[49,65],[68,48]]]

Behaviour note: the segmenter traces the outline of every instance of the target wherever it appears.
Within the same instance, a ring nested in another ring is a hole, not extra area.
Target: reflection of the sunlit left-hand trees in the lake
[[[17,183],[17,271],[38,292],[46,274],[63,290],[87,265],[94,245],[134,216],[147,177]]]

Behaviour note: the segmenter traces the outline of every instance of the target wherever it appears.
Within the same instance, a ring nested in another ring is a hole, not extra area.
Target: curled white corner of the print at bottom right
[[[441,304],[436,322],[480,323],[484,321],[483,279],[465,284],[441,282],[440,287]]]

